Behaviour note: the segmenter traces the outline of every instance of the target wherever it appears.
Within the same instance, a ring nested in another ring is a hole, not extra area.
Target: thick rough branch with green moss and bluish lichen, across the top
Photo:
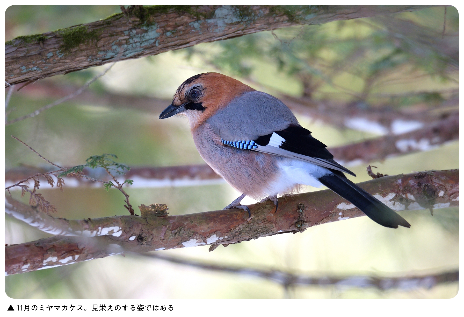
[[[36,81],[105,63],[291,25],[427,6],[137,6],[136,10],[6,42],[5,81]]]

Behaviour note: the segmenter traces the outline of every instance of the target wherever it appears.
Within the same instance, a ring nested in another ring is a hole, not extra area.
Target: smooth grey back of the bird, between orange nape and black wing
[[[252,140],[260,135],[299,125],[295,115],[274,96],[261,91],[246,92],[234,98],[206,120],[225,140]]]

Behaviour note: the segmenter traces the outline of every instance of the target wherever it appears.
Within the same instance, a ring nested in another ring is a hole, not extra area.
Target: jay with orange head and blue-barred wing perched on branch
[[[224,209],[238,208],[245,196],[272,201],[302,185],[322,187],[354,204],[389,228],[411,225],[350,181],[356,176],[338,164],[327,146],[302,127],[278,98],[219,73],[188,78],[160,119],[185,115],[195,146],[206,164],[242,195]]]

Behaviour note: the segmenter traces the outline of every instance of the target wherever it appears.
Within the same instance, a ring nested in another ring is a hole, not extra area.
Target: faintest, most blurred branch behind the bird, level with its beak
[[[65,86],[53,82],[36,82],[19,91],[20,94],[31,98],[47,96],[62,98],[77,90],[77,87]],[[308,97],[281,98],[295,113],[309,116],[335,127],[348,127],[380,134],[401,134],[443,119],[445,116],[455,115],[458,111],[458,97],[454,96],[443,101],[432,111],[418,109],[415,112],[394,111],[389,108],[359,109],[352,103],[335,103],[334,101],[316,101]],[[131,108],[149,113],[160,114],[171,100],[152,98],[138,95],[124,95],[106,91],[97,94],[86,90],[76,96],[78,103],[104,105],[111,108]],[[420,107],[420,105],[418,105]],[[408,107],[414,108],[415,105]]]

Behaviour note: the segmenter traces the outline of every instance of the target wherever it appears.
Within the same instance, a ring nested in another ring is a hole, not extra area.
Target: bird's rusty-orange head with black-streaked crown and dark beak
[[[161,112],[160,119],[185,114],[194,129],[232,99],[252,90],[255,89],[219,73],[198,74],[179,86],[172,103]]]

